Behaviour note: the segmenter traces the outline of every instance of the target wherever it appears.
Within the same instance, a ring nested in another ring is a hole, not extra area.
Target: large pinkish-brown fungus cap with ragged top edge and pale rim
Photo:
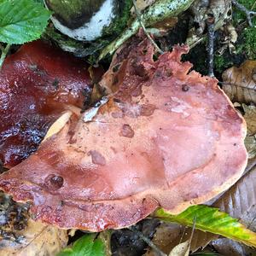
[[[96,116],[68,123],[4,173],[0,188],[32,201],[37,219],[93,231],[135,224],[157,207],[181,212],[228,189],[247,163],[246,126],[216,79],[189,73],[187,51],[153,61],[147,40],[120,50],[102,80],[113,95]]]

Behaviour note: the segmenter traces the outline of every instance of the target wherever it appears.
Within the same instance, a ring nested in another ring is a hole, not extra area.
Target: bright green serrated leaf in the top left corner
[[[24,44],[40,38],[50,14],[33,0],[0,0],[0,42]]]

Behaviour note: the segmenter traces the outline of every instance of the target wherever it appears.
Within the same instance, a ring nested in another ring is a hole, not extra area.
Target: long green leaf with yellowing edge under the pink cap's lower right
[[[208,231],[241,241],[248,246],[256,247],[256,233],[240,224],[236,218],[231,218],[225,212],[219,212],[218,208],[207,206],[189,207],[184,212],[172,215],[160,208],[154,212],[154,218],[160,218],[166,222],[177,222],[179,224],[193,226],[195,220],[195,229]]]

